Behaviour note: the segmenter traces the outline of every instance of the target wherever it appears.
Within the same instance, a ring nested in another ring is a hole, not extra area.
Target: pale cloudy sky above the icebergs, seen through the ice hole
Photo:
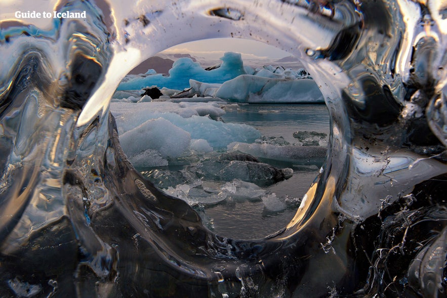
[[[241,38],[213,38],[192,42],[186,42],[169,48],[162,53],[166,54],[190,54],[195,57],[217,60],[225,52],[236,52],[242,55],[242,59],[276,60],[291,54],[266,45],[262,42]]]

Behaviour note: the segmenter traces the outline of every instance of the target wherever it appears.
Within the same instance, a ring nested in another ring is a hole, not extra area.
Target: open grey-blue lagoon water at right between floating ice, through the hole
[[[283,137],[286,142],[297,143],[293,133],[313,131],[326,133],[329,138],[329,113],[322,104],[242,105],[237,111],[227,111],[225,122],[245,123],[254,126],[265,137]],[[328,139],[327,138],[327,139]],[[321,142],[322,145],[327,144]],[[230,200],[207,208],[213,219],[214,230],[223,236],[240,239],[256,239],[273,234],[285,227],[295,216],[302,197],[315,180],[319,167],[294,165],[290,162],[263,160],[278,167],[291,167],[292,178],[267,187],[286,201],[287,208],[274,212],[265,208],[262,201]]]

